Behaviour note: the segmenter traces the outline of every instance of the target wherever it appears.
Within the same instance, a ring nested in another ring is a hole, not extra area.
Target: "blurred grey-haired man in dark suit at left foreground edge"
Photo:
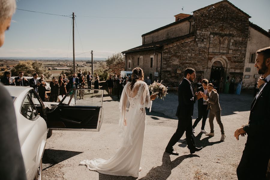
[[[10,28],[15,9],[15,0],[0,0],[0,47],[4,44],[4,34]],[[26,180],[13,102],[1,83],[0,92],[0,177],[5,180]]]

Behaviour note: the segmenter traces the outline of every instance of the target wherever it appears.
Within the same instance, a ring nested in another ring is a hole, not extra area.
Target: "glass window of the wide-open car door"
[[[74,92],[73,92],[74,91]],[[61,101],[61,105],[102,107],[104,90],[75,89]]]

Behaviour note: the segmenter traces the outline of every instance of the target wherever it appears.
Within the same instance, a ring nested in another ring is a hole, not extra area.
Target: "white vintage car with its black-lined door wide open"
[[[33,88],[5,88],[13,99],[28,180],[42,180],[42,156],[52,130],[99,131],[101,128],[104,90],[91,93],[85,89],[70,89],[61,102],[50,103],[42,102]],[[78,99],[79,92],[84,93],[84,99]]]

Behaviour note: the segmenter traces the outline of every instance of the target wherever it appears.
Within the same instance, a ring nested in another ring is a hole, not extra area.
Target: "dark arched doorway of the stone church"
[[[225,68],[220,61],[214,61],[211,67],[211,75],[209,82],[213,83],[214,88],[218,89],[220,78],[225,76]],[[224,80],[223,80],[224,81]]]

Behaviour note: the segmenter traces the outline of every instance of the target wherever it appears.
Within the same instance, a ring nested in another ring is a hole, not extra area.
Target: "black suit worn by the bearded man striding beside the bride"
[[[186,131],[188,149],[194,149],[195,142],[192,137],[192,115],[196,96],[193,94],[192,87],[187,79],[183,79],[178,87],[178,107],[176,116],[178,117],[178,126],[176,132],[170,139],[166,149],[172,150],[173,146],[179,141]]]

